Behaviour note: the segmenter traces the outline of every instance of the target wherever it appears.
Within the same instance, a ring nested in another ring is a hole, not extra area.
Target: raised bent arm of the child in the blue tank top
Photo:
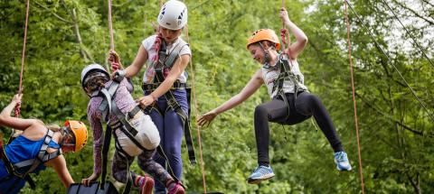
[[[24,131],[26,128],[37,122],[36,119],[23,119],[11,116],[11,112],[14,111],[14,107],[21,103],[22,97],[23,94],[15,95],[14,98],[12,98],[11,103],[9,103],[8,106],[5,106],[2,113],[0,114],[0,125]]]

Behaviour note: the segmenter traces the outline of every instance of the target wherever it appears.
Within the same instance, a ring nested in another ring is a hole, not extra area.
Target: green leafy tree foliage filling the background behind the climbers
[[[423,0],[415,1],[416,5],[424,7],[418,8],[420,12],[417,15],[409,7],[401,6],[405,4],[400,5],[400,2],[388,1],[401,19],[406,18],[409,23],[406,27],[432,57],[434,31],[432,22],[429,23],[431,20],[426,18],[432,18],[434,7]],[[272,28],[278,32],[281,28],[278,18],[280,3],[261,0],[186,1],[189,22],[188,34],[184,31],[183,38],[190,42],[193,50],[193,69],[189,67],[188,71],[198,104],[197,110],[192,104],[193,138],[198,161],[199,139],[194,124],[197,115],[237,94],[259,69],[259,64],[251,60],[250,53],[245,50],[246,39],[260,28]],[[306,50],[298,59],[308,88],[327,107],[354,171],[335,171],[333,152],[324,135],[310,120],[285,126],[285,129],[271,124],[270,158],[277,176],[260,185],[247,184],[246,177],[257,165],[252,125],[254,107],[269,100],[265,88],[261,88],[241,106],[219,115],[210,127],[201,128],[207,191],[361,192],[344,3],[332,0],[286,1],[286,6],[291,20],[309,38]],[[433,67],[422,57],[382,1],[354,1],[353,6],[373,32],[373,38],[391,58],[388,60],[378,50],[350,10],[365,189],[369,193],[432,193]],[[1,1],[0,7],[0,106],[4,107],[19,85],[25,5],[24,1]],[[113,2],[115,49],[124,65],[134,60],[140,42],[154,32],[151,23],[156,21],[158,7],[156,0]],[[23,117],[37,117],[54,124],[61,124],[65,118],[87,119],[88,97],[80,87],[80,70],[90,62],[106,64],[109,51],[107,10],[107,1],[31,1],[23,79]],[[415,90],[429,113],[420,106],[392,65]],[[135,97],[141,96],[140,77],[133,79]],[[5,140],[10,130],[5,127],[0,130],[5,134]],[[92,172],[91,139],[83,152],[66,155],[75,181]],[[183,181],[187,190],[202,192],[201,166],[188,164],[186,152],[183,152],[183,159]],[[137,165],[133,170],[140,171]],[[23,193],[65,193],[52,169],[33,177],[38,188],[33,191],[26,186]]]

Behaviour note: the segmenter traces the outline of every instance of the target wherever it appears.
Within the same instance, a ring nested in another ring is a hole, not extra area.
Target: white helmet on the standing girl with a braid
[[[170,0],[161,7],[156,21],[170,30],[179,30],[187,24],[187,6],[183,2]]]

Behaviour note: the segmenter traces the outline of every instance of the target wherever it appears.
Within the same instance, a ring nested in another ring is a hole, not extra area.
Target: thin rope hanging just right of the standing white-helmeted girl
[[[192,45],[190,43],[190,37],[188,36],[188,24],[185,25],[185,36],[187,38],[188,45]],[[193,93],[193,102],[194,102],[194,112],[196,114],[196,123],[197,118],[199,118],[199,111],[198,111],[198,105],[197,105],[197,98],[196,98],[196,88],[195,88],[195,79],[194,79],[194,70],[193,70],[193,59],[190,59],[190,69],[192,73],[192,93]],[[202,183],[203,183],[203,193],[206,193],[206,180],[205,180],[205,164],[203,163],[203,152],[202,152],[202,141],[201,141],[201,126],[197,125],[197,142],[199,143],[199,154],[201,156],[201,172],[202,172]]]

